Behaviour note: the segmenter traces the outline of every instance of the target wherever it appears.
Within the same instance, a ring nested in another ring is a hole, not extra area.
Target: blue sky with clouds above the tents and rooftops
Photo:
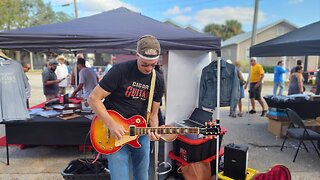
[[[74,15],[73,0],[44,0],[55,11]],[[171,20],[202,31],[210,23],[236,19],[244,31],[251,31],[254,0],[77,0],[79,17],[121,6],[159,21]],[[62,7],[62,4],[72,3]],[[320,0],[260,0],[258,28],[286,19],[297,27],[320,20]]]

